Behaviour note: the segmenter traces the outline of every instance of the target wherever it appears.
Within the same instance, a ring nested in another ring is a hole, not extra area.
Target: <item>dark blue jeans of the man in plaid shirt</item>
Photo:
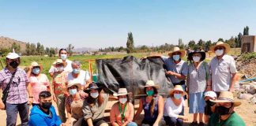
[[[28,126],[28,103],[24,102],[21,104],[9,104],[6,103],[6,125],[15,126],[17,121],[17,113],[19,112],[21,117],[21,126]]]

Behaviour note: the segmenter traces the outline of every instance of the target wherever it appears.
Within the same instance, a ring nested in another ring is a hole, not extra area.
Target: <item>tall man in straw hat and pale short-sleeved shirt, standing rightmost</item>
[[[237,78],[235,60],[228,55],[230,46],[227,43],[217,42],[210,48],[215,52],[216,57],[210,61],[210,70],[212,73],[212,88],[217,95],[220,91],[234,91],[234,85]]]

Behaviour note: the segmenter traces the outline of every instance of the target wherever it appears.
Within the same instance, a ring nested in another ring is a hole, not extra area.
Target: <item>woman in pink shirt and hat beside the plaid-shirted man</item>
[[[33,101],[32,106],[38,105],[38,96],[41,91],[50,91],[50,82],[47,78],[47,76],[43,73],[42,65],[39,65],[36,61],[33,61],[31,63],[30,69],[28,71],[29,73],[29,85],[32,87],[32,95],[33,95]]]

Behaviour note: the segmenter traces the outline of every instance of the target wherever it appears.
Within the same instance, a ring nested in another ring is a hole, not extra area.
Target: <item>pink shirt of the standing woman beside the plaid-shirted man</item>
[[[32,95],[34,104],[39,104],[39,94],[41,91],[47,91],[47,87],[50,87],[50,82],[45,74],[40,74],[40,76],[30,76],[30,84],[32,87]]]

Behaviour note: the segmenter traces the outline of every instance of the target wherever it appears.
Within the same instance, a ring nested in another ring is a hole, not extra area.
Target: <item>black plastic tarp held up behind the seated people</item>
[[[96,60],[98,69],[97,82],[113,93],[120,87],[126,87],[134,95],[141,95],[141,87],[147,80],[160,85],[160,94],[166,94],[172,83],[165,76],[164,62],[160,58],[137,59],[133,56],[123,59]]]

